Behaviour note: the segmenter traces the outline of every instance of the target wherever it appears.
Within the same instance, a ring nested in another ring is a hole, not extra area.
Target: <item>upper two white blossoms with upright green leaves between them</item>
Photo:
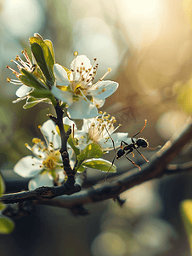
[[[12,60],[19,72],[8,67],[17,79],[7,79],[9,83],[20,85],[16,91],[18,100],[26,99],[24,108],[31,108],[39,102],[62,102],[67,108],[67,114],[71,119],[89,119],[96,117],[98,108],[104,105],[105,98],[113,94],[118,88],[118,83],[104,80],[107,72],[93,84],[99,64],[97,59],[93,64],[86,55],[74,53],[75,58],[71,62],[71,69],[62,67],[54,61],[54,47],[51,41],[43,40],[35,34],[30,38],[32,60],[27,50],[23,50],[23,61],[19,55]]]

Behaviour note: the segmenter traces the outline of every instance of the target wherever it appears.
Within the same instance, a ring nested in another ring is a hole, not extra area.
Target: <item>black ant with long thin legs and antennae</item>
[[[147,120],[145,119],[144,120],[144,127],[141,129],[141,131],[144,130],[144,128],[146,127],[147,125]],[[106,128],[106,127],[105,127]],[[107,131],[107,129],[106,129]],[[133,135],[133,137],[136,137],[141,131],[138,131],[135,135]],[[110,133],[107,131],[107,133],[109,134],[110,136]],[[131,144],[128,144],[124,141],[121,141],[121,145],[120,145],[120,148],[118,149],[118,151],[116,152],[116,155],[114,157],[114,159],[112,160],[112,164],[110,166],[110,168],[113,166],[115,160],[117,159],[120,159],[123,155],[125,155],[125,157],[127,158],[127,160],[129,160],[134,166],[137,166],[135,164],[135,162],[133,162],[133,160],[131,160],[129,157],[127,157],[127,154],[129,153],[132,153],[133,154],[133,150],[136,150],[138,152],[138,154],[140,154],[144,160],[146,162],[149,162],[149,160],[147,160],[143,154],[141,154],[141,152],[138,151],[138,148],[149,148],[149,143],[148,141],[144,138],[144,137],[139,137],[138,139],[136,139],[136,141],[133,140],[133,137],[131,137],[131,140],[132,140],[132,143]],[[112,139],[112,137],[110,137],[112,143],[113,143],[113,148],[114,150],[116,151],[116,148],[115,148],[115,143],[114,143],[114,140]],[[126,146],[123,147],[122,146],[122,143],[124,143]],[[150,149],[155,149],[155,148],[150,148]],[[134,154],[133,154],[134,156]],[[138,167],[138,170],[141,171],[141,168],[139,166]],[[110,172],[110,169],[108,170],[107,174]],[[106,174],[106,177],[107,177],[107,174]],[[105,177],[105,182],[106,182],[106,177]]]

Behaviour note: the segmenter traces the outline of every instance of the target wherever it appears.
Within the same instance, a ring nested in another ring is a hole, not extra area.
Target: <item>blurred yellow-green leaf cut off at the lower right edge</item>
[[[184,228],[188,235],[190,250],[192,253],[192,200],[185,200],[180,204],[181,217],[184,222]]]

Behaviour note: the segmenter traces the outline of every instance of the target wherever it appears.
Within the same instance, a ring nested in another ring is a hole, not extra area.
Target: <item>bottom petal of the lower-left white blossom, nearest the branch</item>
[[[46,187],[54,186],[54,178],[47,172],[32,178],[28,184],[29,190],[35,190],[42,186],[46,186]]]

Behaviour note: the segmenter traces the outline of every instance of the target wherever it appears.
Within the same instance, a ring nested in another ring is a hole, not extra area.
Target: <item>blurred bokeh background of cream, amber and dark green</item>
[[[192,1],[190,0],[0,0],[0,163],[12,170],[30,154],[24,144],[41,137],[38,125],[54,110],[45,104],[25,110],[16,99],[17,86],[6,78],[6,66],[29,49],[38,32],[54,43],[56,62],[70,67],[73,52],[97,58],[99,79],[120,86],[106,99],[103,111],[121,123],[130,136],[148,120],[142,136],[150,147],[163,145],[192,112]],[[106,158],[112,160],[114,152]],[[154,152],[143,151],[146,158]],[[191,159],[186,147],[174,163]],[[138,165],[143,163],[135,155]],[[133,167],[127,160],[118,170]],[[7,173],[11,173],[7,171]],[[9,174],[8,174],[9,175]],[[11,175],[11,174],[10,174]],[[100,172],[88,171],[88,178]],[[113,201],[86,206],[90,215],[76,217],[65,209],[36,207],[15,220],[11,235],[1,236],[0,255],[188,256],[189,245],[178,211],[192,197],[191,174],[163,177],[123,193],[120,208]]]

